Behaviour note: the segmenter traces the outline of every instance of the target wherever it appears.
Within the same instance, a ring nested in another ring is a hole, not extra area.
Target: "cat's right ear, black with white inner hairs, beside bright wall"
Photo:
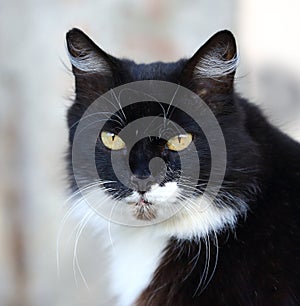
[[[213,35],[187,61],[183,71],[185,81],[193,81],[200,96],[228,94],[233,91],[238,54],[234,36],[224,30]]]

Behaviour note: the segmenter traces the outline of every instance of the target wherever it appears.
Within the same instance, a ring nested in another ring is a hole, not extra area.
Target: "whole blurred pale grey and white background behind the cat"
[[[137,62],[191,56],[212,34],[234,32],[238,91],[300,140],[299,0],[11,0],[0,2],[0,305],[114,305],[101,237],[64,202],[66,109],[74,89],[65,33]],[[76,227],[77,226],[77,227]],[[75,234],[74,234],[75,233]]]

